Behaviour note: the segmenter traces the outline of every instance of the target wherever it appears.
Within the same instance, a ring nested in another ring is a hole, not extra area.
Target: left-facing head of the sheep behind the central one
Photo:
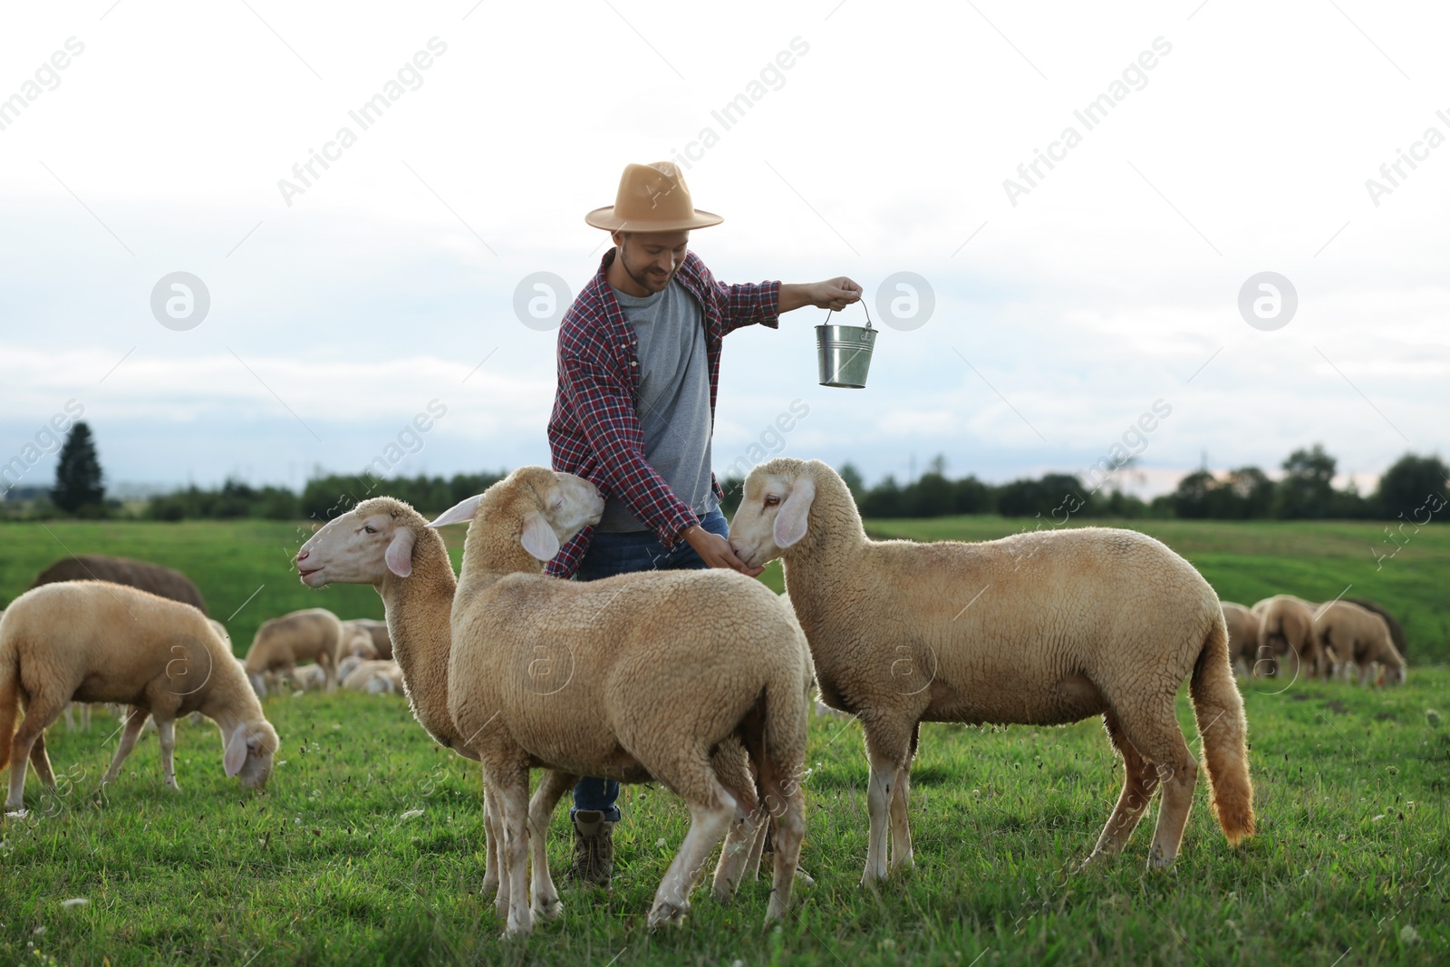
[[[423,518],[394,497],[361,500],[313,534],[297,551],[297,571],[309,587],[380,586],[389,574],[413,573],[413,545]],[[426,534],[426,531],[423,531]],[[442,547],[442,539],[431,535]]]

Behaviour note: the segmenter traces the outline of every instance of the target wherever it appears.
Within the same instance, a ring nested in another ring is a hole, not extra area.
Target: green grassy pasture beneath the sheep
[[[980,539],[1022,522],[869,526],[876,536]],[[1121,786],[1102,726],[927,725],[912,773],[916,870],[864,890],[861,731],[813,718],[802,864],[816,886],[798,889],[784,926],[761,929],[768,886],[755,883],[731,906],[697,890],[682,931],[651,935],[644,918],[687,813],[670,793],[635,786],[615,835],[613,893],[561,881],[564,921],[502,944],[478,892],[477,768],[434,745],[402,699],[307,693],[265,702],[283,751],[261,796],[222,776],[210,723],[177,726],[180,793],[161,786],[154,734],[102,793],[116,723],[97,715],[88,734],[54,728],[59,793],[42,796],[32,777],[29,815],[0,828],[0,963],[1444,963],[1450,541],[1425,528],[1376,570],[1367,548],[1385,535],[1370,523],[1135,526],[1183,552],[1225,599],[1327,599],[1353,584],[1351,596],[1398,612],[1409,635],[1401,689],[1243,684],[1259,812],[1243,850],[1224,842],[1201,777],[1170,871],[1144,871],[1150,832],[1140,828],[1119,860],[1074,873]],[[186,571],[239,652],[286,610],[381,616],[371,589],[297,581],[290,557],[307,529],[293,525],[46,522],[0,534],[4,602],[70,549]],[[1182,696],[1179,719],[1196,752]],[[561,808],[550,832],[557,877],[568,848]],[[67,906],[72,899],[86,903]]]

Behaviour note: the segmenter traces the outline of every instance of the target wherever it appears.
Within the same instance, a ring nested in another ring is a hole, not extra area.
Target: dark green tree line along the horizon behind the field
[[[1450,468],[1438,457],[1405,454],[1379,478],[1373,493],[1362,494],[1350,483],[1333,486],[1337,461],[1315,444],[1295,449],[1279,465],[1273,480],[1259,467],[1238,467],[1224,473],[1196,470],[1167,494],[1143,500],[1122,489],[1122,477],[1134,471],[1132,461],[1114,467],[1114,473],[1089,489],[1079,477],[1048,473],[1035,478],[992,484],[974,476],[947,477],[945,458],[937,457],[916,480],[898,483],[887,476],[867,487],[850,462],[840,468],[851,489],[861,516],[866,518],[938,518],[958,513],[998,513],[1006,518],[1043,518],[1063,523],[1079,518],[1182,518],[1218,520],[1262,519],[1388,519],[1424,523],[1441,516],[1447,503]],[[376,477],[325,474],[307,480],[302,493],[287,487],[252,487],[228,478],[220,487],[190,486],[149,497],[139,512],[123,510],[119,500],[104,496],[103,473],[94,435],[86,422],[77,422],[61,448],[55,487],[28,507],[25,516],[65,513],[84,518],[139,516],[151,520],[191,520],[262,518],[271,520],[331,520],[349,510],[358,500],[393,496],[423,513],[436,513],[460,500],[487,490],[502,480],[497,473],[454,474],[452,477]],[[722,510],[734,515],[741,500],[738,477],[721,481],[725,490]],[[9,494],[7,494],[9,496]],[[45,499],[48,497],[48,500]],[[17,515],[9,515],[17,516]]]

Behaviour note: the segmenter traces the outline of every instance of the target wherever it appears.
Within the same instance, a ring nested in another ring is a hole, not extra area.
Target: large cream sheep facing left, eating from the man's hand
[[[1135,531],[1031,531],[977,544],[871,541],[841,477],[776,458],[745,478],[729,531],[750,567],[782,558],[821,699],[861,719],[870,765],[863,883],[914,866],[909,768],[922,721],[1057,725],[1102,715],[1127,767],[1085,866],[1118,852],[1156,786],[1148,867],[1177,854],[1198,764],[1174,718],[1179,684],[1204,739],[1214,812],[1253,835],[1243,699],[1218,596]]]

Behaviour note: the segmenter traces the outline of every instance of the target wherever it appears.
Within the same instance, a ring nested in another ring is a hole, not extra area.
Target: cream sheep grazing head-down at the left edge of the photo
[[[116,781],[152,716],[162,779],[177,789],[174,723],[193,710],[220,729],[228,776],[248,789],[261,789],[271,776],[277,731],[241,663],[190,605],[110,581],[45,584],[10,605],[0,622],[0,768],[10,764],[6,809],[23,808],[26,760],[55,789],[45,729],[71,700],[130,706],[103,784]],[[26,715],[17,731],[19,706]]]

